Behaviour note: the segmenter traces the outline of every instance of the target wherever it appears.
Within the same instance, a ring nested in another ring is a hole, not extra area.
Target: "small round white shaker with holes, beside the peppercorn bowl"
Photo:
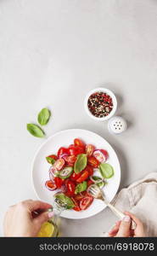
[[[110,133],[120,134],[127,129],[126,120],[121,116],[115,116],[109,119],[108,129]]]

